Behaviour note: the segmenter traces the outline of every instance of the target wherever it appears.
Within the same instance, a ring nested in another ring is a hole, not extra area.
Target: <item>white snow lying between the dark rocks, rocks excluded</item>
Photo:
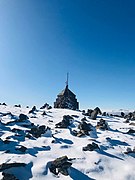
[[[9,168],[5,171],[14,174],[19,180],[47,180],[47,179],[74,179],[74,180],[135,180],[135,156],[125,154],[126,149],[135,146],[135,134],[127,134],[134,125],[125,123],[123,118],[98,116],[97,120],[88,117],[87,122],[93,126],[97,125],[99,119],[103,118],[109,125],[109,130],[99,130],[90,133],[89,136],[73,136],[71,130],[77,129],[79,122],[84,117],[81,112],[66,109],[45,110],[47,115],[42,115],[44,110],[38,110],[35,114],[29,114],[29,108],[11,106],[0,106],[0,164],[2,163],[26,163],[25,167]],[[4,115],[11,112],[14,117]],[[19,115],[26,114],[29,119],[25,122],[8,123],[18,119]],[[62,121],[64,115],[76,115],[68,128],[55,128],[55,124]],[[78,117],[77,117],[78,116]],[[6,124],[8,123],[8,124]],[[39,138],[27,138],[25,132],[29,125],[45,125],[51,131]],[[20,129],[19,132],[12,130]],[[53,134],[53,136],[52,136]],[[55,138],[54,138],[55,137]],[[55,139],[55,143],[52,141]],[[9,143],[3,143],[9,140]],[[95,151],[83,151],[87,144],[95,142],[100,147]],[[15,150],[17,147],[25,146],[25,153]],[[8,151],[7,151],[8,150]],[[49,162],[61,156],[74,158],[69,169],[69,176],[59,174],[54,176],[49,168]],[[2,179],[2,172],[0,172]]]

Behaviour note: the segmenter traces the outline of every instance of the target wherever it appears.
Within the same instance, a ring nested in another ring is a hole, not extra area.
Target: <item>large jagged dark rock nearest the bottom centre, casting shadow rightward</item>
[[[71,167],[72,163],[71,160],[68,159],[67,156],[62,156],[54,161],[51,162],[51,165],[49,167],[50,172],[52,172],[55,175],[58,175],[59,173],[68,176],[69,172],[68,169]]]

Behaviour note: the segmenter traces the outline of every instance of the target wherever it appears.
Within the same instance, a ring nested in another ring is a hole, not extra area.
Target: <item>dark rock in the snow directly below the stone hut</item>
[[[55,125],[56,128],[67,128],[71,125],[73,117],[69,115],[64,115],[63,120]]]

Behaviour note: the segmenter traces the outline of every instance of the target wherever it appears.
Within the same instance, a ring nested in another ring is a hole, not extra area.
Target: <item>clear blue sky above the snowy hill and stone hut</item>
[[[0,0],[0,102],[135,109],[135,1]]]

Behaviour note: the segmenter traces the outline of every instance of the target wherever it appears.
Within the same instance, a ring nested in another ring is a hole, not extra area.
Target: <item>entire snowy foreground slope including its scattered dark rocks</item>
[[[0,105],[0,179],[135,179],[135,120]]]

